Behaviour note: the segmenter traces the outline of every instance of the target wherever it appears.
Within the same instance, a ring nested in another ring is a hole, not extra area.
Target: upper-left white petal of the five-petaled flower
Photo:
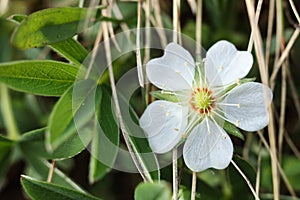
[[[190,89],[195,74],[195,62],[187,50],[170,43],[162,57],[147,63],[146,72],[150,82],[160,89]]]

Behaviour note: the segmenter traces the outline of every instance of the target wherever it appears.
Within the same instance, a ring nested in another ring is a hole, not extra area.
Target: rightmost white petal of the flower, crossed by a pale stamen
[[[272,91],[261,83],[244,83],[232,89],[222,106],[225,117],[246,131],[257,131],[269,123],[267,107],[272,100]]]

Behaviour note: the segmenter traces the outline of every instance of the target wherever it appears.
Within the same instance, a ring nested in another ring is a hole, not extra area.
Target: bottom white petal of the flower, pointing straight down
[[[233,145],[227,133],[209,119],[203,120],[188,136],[183,147],[185,164],[200,172],[208,168],[226,168],[233,155]]]

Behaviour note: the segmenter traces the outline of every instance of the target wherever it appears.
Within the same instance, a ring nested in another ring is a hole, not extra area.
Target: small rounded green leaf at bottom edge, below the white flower
[[[170,200],[170,187],[164,182],[140,183],[134,192],[135,200]]]

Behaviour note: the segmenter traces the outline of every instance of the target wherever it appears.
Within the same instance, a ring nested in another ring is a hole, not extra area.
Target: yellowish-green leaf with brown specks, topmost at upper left
[[[66,40],[81,32],[87,17],[93,16],[91,13],[100,9],[65,7],[37,11],[17,27],[12,43],[18,48],[26,49]],[[91,22],[91,19],[87,22]]]

